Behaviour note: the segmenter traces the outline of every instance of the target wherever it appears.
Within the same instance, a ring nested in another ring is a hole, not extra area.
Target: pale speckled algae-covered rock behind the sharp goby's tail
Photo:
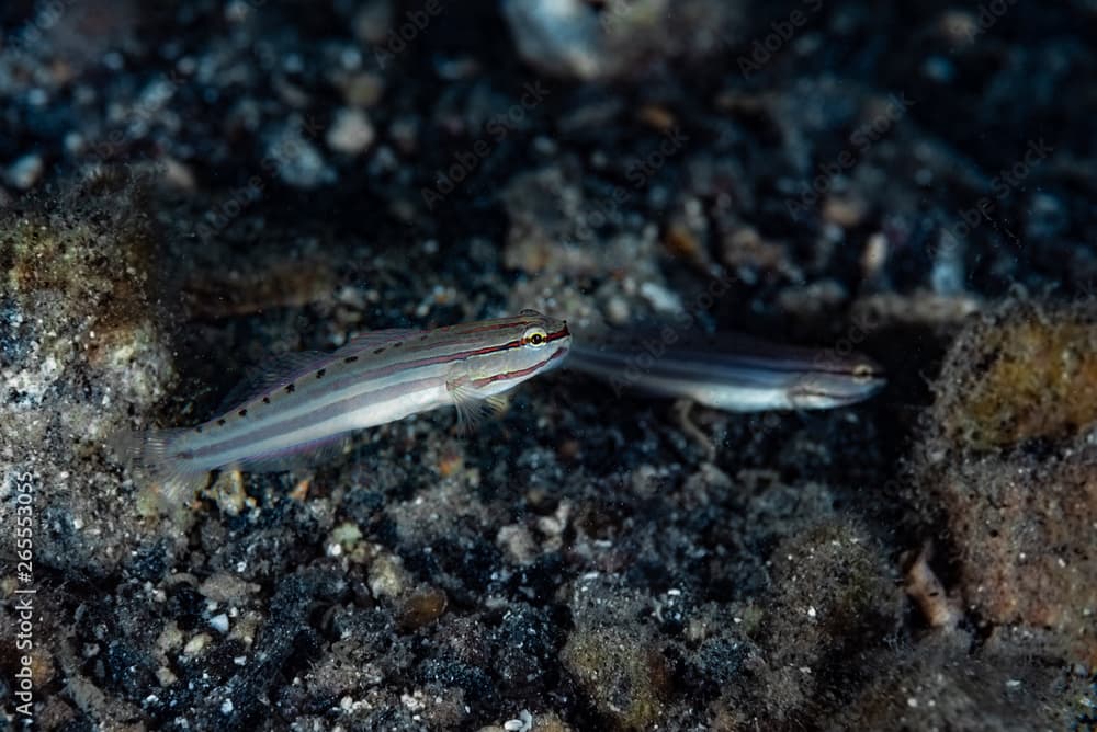
[[[0,220],[0,464],[31,476],[35,554],[54,567],[100,574],[136,535],[101,446],[172,378],[154,249],[143,186],[125,174],[66,184]],[[0,519],[13,507],[0,502]]]

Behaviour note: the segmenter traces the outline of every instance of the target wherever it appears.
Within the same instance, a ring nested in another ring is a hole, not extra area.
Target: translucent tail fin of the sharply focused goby
[[[172,441],[186,430],[120,430],[109,441],[120,462],[149,480],[149,493],[161,512],[170,513],[194,497],[210,478],[171,450]]]

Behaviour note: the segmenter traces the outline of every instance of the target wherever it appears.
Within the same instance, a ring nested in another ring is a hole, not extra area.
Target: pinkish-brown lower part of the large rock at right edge
[[[964,610],[1050,629],[1058,650],[1097,664],[1097,446],[969,457],[931,474]]]

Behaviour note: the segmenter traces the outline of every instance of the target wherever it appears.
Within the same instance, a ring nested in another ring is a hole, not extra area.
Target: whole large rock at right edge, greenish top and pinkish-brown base
[[[914,495],[943,524],[962,609],[1050,631],[1097,664],[1097,309],[1014,305],[973,322],[923,424]]]

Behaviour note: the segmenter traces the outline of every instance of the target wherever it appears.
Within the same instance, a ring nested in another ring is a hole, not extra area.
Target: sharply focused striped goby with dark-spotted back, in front
[[[351,430],[454,405],[463,422],[561,364],[567,323],[523,310],[429,331],[367,332],[333,353],[298,353],[267,369],[236,407],[181,430],[123,431],[116,455],[142,469],[170,506],[211,470],[289,470]]]

